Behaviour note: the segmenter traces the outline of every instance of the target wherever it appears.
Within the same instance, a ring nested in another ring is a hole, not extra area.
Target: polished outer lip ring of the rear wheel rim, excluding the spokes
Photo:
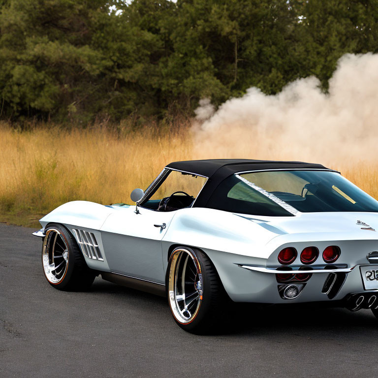
[[[177,281],[177,267],[179,265],[179,262],[183,256],[183,253],[186,253],[191,257],[192,261],[194,262],[194,265],[197,269],[197,274],[199,275],[200,282],[201,282],[201,288],[202,288],[202,294],[199,295],[198,305],[193,315],[191,315],[188,319],[184,318],[178,308],[178,303],[176,299],[176,289],[175,284]],[[171,309],[172,315],[176,319],[177,322],[180,324],[189,324],[191,323],[196,316],[198,315],[199,309],[201,307],[202,298],[203,298],[203,278],[202,278],[202,272],[201,272],[201,265],[198,261],[197,256],[191,252],[190,250],[186,248],[178,248],[174,250],[169,258],[169,276],[168,276],[168,302],[169,302],[169,308]]]

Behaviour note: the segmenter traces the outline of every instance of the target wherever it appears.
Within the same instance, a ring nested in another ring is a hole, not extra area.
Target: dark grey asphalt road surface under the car
[[[195,336],[164,298],[96,279],[62,292],[44,278],[41,239],[0,224],[0,377],[374,377],[368,310],[236,306],[220,334]]]

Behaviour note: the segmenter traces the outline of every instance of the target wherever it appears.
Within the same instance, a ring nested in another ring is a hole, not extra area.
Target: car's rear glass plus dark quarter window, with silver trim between
[[[298,211],[378,212],[378,201],[332,171],[265,171],[232,175],[214,191],[207,207],[260,216]]]

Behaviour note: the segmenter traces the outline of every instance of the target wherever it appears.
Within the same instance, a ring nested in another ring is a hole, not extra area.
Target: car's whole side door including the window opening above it
[[[177,211],[192,205],[206,179],[164,168],[146,193],[142,192],[138,211],[130,206],[112,213],[100,229],[110,270],[164,284],[161,239]],[[166,200],[175,204],[167,206]]]

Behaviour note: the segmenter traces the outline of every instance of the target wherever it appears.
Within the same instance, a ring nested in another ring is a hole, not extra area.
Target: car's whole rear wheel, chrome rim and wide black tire
[[[176,248],[167,272],[168,303],[184,330],[210,333],[219,325],[227,297],[211,260],[201,251]]]

